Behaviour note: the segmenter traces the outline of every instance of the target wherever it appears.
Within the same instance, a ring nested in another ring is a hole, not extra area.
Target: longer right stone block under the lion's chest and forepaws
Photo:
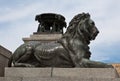
[[[117,78],[113,68],[54,68],[53,77]]]

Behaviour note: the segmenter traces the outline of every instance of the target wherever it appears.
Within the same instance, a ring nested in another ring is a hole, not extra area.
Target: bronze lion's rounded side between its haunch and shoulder
[[[42,43],[36,47],[34,55],[42,66],[72,67],[68,51],[57,42]]]

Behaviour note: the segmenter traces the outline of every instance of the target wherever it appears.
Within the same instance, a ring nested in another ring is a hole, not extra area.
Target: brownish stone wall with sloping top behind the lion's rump
[[[4,68],[8,66],[8,60],[12,52],[0,45],[0,76],[4,76]]]

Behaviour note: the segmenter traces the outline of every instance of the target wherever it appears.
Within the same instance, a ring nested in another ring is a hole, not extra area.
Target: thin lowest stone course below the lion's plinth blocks
[[[0,81],[120,81],[120,78],[40,78],[0,77]]]

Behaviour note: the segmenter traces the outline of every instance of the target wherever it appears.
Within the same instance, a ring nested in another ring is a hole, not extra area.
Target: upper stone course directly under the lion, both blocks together
[[[118,78],[114,68],[5,68],[5,77]]]

